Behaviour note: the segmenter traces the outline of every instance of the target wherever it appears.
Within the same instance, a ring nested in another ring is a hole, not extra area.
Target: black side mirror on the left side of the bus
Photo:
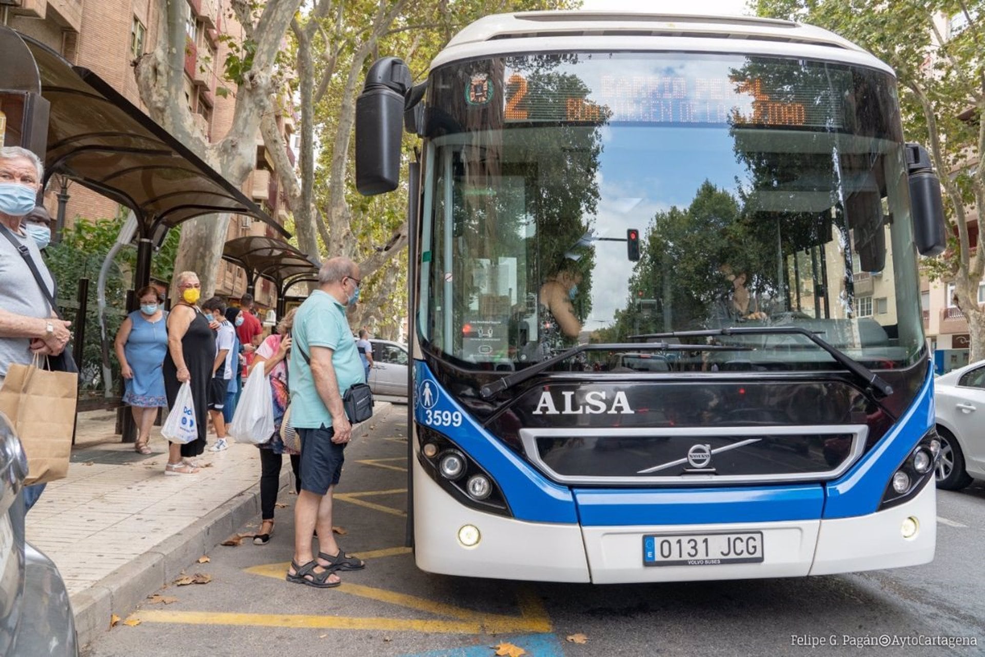
[[[390,192],[400,182],[404,102],[413,80],[397,57],[369,67],[356,99],[356,188],[363,196]]]

